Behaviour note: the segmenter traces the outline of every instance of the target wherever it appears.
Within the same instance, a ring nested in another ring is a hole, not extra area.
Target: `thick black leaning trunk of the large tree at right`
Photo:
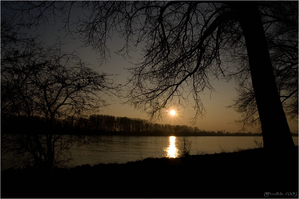
[[[271,151],[289,150],[295,144],[277,90],[257,4],[252,1],[238,2],[235,10],[245,36],[264,148]]]

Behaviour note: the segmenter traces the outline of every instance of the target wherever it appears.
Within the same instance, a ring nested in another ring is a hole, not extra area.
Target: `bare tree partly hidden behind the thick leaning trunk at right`
[[[296,17],[298,10],[293,2],[289,1],[267,2],[267,4],[271,5],[271,9],[264,8],[262,20],[277,89],[286,115],[290,119],[296,120],[298,119],[298,26],[292,23],[281,23],[273,16],[280,20]],[[296,18],[292,20],[296,21]],[[248,65],[247,58],[239,54],[238,51],[234,52],[233,60],[239,60]],[[246,66],[244,68],[246,69]],[[236,122],[242,125],[243,130],[247,126],[260,129],[254,91],[251,81],[248,80],[250,71],[244,70],[244,68],[236,73],[238,96],[234,99],[234,104],[228,107],[233,107],[242,114]],[[236,74],[233,74],[233,77]]]

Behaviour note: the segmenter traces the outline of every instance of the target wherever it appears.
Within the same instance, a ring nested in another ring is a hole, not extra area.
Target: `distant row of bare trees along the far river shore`
[[[41,133],[47,128],[43,117],[27,118],[14,116],[1,121],[2,127],[10,129],[7,133],[22,133],[30,129]],[[146,119],[93,114],[88,118],[61,118],[53,124],[56,133],[86,135],[131,135],[131,136],[261,136],[260,133],[230,133],[225,130],[206,131],[187,125],[149,123]],[[292,133],[298,136],[298,133]]]

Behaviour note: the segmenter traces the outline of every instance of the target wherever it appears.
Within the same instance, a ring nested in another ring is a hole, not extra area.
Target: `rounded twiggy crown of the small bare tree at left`
[[[4,113],[40,115],[51,127],[56,117],[88,115],[108,105],[101,97],[113,87],[109,75],[60,49],[45,52],[2,63]]]

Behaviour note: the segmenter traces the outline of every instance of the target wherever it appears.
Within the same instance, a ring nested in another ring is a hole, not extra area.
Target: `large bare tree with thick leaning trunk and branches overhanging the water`
[[[129,103],[144,111],[150,109],[148,113],[154,116],[155,113],[160,114],[162,108],[175,104],[175,97],[176,103],[184,106],[181,100],[185,103],[187,98],[182,93],[187,90],[193,94],[197,113],[204,113],[199,93],[204,88],[213,89],[209,83],[211,72],[224,75],[229,70],[224,68],[222,57],[231,56],[230,45],[235,42],[233,44],[238,50],[248,55],[264,147],[273,150],[294,146],[277,92],[259,10],[261,4],[197,4],[184,1],[124,4],[104,3],[101,9],[94,5],[90,17],[93,21],[83,21],[85,23],[80,31],[87,35],[89,44],[95,45],[99,38],[89,35],[108,32],[110,27],[125,23],[120,33],[126,35],[127,42],[132,36],[137,36],[137,43],[145,41],[143,63],[131,69],[133,85],[129,88]],[[271,10],[271,4],[262,6],[266,11]],[[118,10],[119,7],[124,9]],[[106,19],[107,15],[111,17],[106,26],[101,26],[100,22],[105,22],[101,19]],[[264,15],[298,29],[298,18],[280,18],[267,12]],[[142,23],[137,25],[135,20]],[[105,40],[101,41],[104,43]],[[297,46],[291,47],[296,49]],[[279,123],[279,127],[273,122]]]

